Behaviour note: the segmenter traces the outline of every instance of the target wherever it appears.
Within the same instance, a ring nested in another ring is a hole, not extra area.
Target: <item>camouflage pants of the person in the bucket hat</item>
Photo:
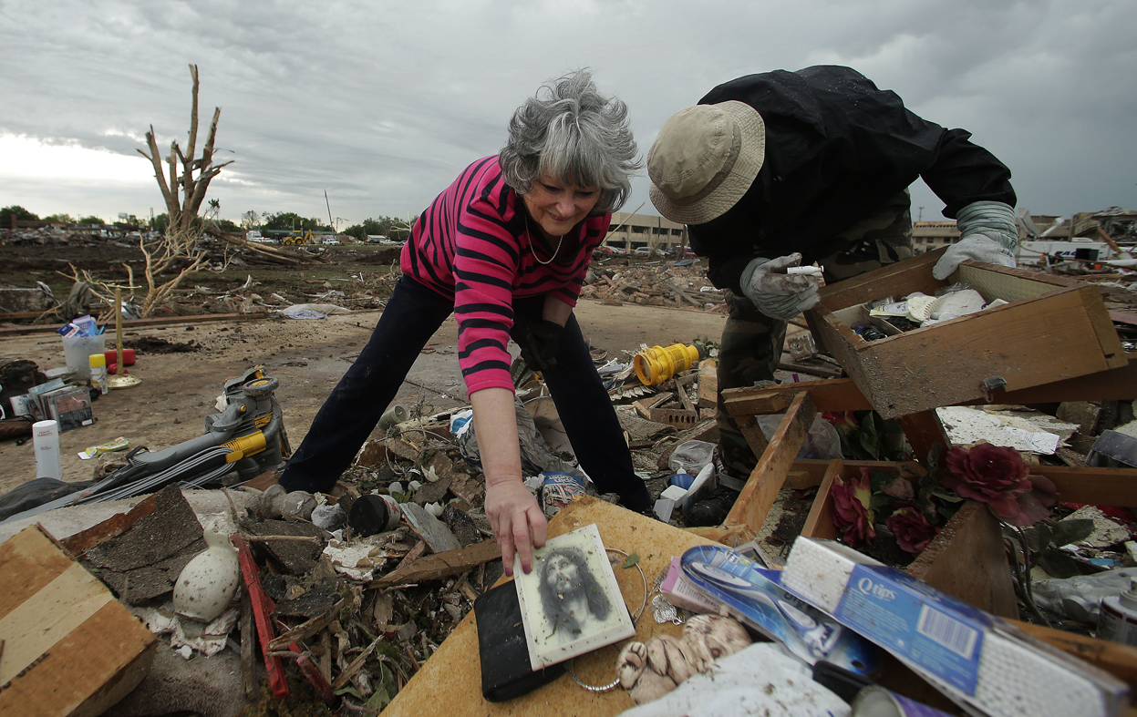
[[[841,231],[825,244],[825,283],[832,284],[914,256],[908,192],[895,195],[873,216]],[[773,257],[771,257],[773,258]],[[773,381],[786,340],[786,322],[758,311],[746,297],[727,291],[727,325],[719,349],[719,458],[722,468],[746,480],[757,458],[722,402],[723,389]]]

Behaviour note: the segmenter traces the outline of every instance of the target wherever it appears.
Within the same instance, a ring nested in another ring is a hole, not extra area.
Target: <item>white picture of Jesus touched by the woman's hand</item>
[[[515,558],[513,574],[534,672],[636,635],[595,523],[549,539],[529,575]]]

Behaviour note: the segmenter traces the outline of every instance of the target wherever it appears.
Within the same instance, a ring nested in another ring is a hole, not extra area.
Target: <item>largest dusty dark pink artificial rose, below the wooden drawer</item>
[[[978,443],[947,453],[944,486],[960,498],[988,503],[1001,518],[1019,512],[1018,498],[1030,490],[1027,461],[1013,448]]]

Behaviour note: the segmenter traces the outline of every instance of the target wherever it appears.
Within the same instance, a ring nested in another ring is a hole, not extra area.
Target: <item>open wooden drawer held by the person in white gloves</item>
[[[814,336],[885,418],[982,400],[987,378],[1013,391],[1127,364],[1096,286],[979,261],[937,281],[931,269],[943,252],[827,286],[806,312]],[[1010,303],[872,342],[850,328],[866,318],[868,301],[935,294],[956,282]]]

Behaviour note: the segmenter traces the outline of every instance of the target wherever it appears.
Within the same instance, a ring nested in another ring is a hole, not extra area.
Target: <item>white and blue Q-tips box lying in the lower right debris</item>
[[[847,545],[800,536],[782,586],[991,717],[1112,717],[1127,685]]]

